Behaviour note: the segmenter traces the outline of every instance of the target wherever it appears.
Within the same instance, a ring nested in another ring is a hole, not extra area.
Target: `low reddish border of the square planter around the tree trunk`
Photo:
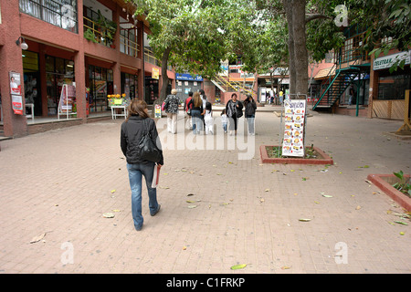
[[[278,147],[276,145],[261,145],[259,146],[259,153],[261,155],[261,162],[263,163],[288,163],[288,164],[334,164],[332,158],[328,156],[324,151],[317,147],[313,147],[313,150],[317,152],[317,158],[299,158],[299,157],[285,157],[285,158],[274,158],[269,157],[267,152],[267,147]],[[311,149],[311,147],[306,147],[306,149]]]

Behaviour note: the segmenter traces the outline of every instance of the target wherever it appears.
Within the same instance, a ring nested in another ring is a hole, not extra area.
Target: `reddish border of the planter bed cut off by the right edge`
[[[409,179],[410,175],[404,175],[406,179]],[[394,174],[368,174],[367,179],[374,183],[381,191],[387,194],[391,199],[398,203],[406,211],[411,212],[411,198],[405,193],[401,193],[396,190],[392,184],[399,182],[398,178]]]

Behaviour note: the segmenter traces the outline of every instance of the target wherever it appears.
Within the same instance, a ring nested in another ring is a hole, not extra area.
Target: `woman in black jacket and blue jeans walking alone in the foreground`
[[[145,178],[149,196],[150,214],[153,216],[160,211],[160,204],[157,202],[157,191],[152,188],[154,162],[144,161],[137,151],[143,133],[143,120],[145,120],[153,142],[161,149],[161,142],[158,138],[157,128],[153,119],[148,117],[147,103],[143,100],[132,99],[129,106],[127,119],[121,124],[121,151],[127,160],[127,170],[129,172],[130,187],[132,189],[132,219],[134,228],[137,231],[142,229],[142,175]],[[162,157],[157,165],[163,166]]]

